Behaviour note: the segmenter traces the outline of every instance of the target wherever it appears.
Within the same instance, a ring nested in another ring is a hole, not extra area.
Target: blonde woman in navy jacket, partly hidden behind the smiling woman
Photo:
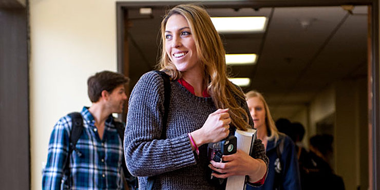
[[[290,137],[278,132],[268,104],[261,93],[252,90],[246,93],[245,97],[257,129],[257,138],[264,143],[269,158],[268,176],[264,185],[247,186],[246,189],[301,189],[293,141]]]

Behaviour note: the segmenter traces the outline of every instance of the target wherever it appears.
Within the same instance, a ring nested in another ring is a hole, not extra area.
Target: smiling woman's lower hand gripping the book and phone
[[[221,174],[213,173],[217,178],[227,178],[230,176],[250,177],[250,182],[256,182],[264,177],[267,166],[261,159],[254,159],[242,150],[237,150],[233,155],[223,156],[224,162],[211,161],[208,165],[211,169]]]

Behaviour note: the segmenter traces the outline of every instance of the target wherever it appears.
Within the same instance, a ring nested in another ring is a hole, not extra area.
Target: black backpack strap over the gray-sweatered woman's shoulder
[[[160,74],[161,78],[164,80],[164,116],[162,118],[162,131],[160,139],[166,139],[166,125],[167,118],[169,114],[169,103],[170,103],[170,77],[163,71],[155,70],[158,74]],[[153,187],[153,183],[156,180],[156,176],[148,177],[146,189],[151,190]]]

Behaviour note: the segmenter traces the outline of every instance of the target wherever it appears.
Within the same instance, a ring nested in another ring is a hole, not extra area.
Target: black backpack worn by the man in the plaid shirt
[[[82,153],[80,151],[78,151],[78,149],[75,147],[75,145],[77,145],[77,142],[78,142],[78,140],[82,134],[83,118],[82,118],[82,115],[80,112],[72,112],[72,113],[69,113],[68,116],[71,118],[71,122],[72,122],[72,129],[70,131],[70,145],[69,145],[68,155],[70,157],[72,151],[75,150],[75,153],[77,153],[78,156],[81,157]],[[112,124],[115,125],[116,129],[118,130],[119,137],[120,137],[121,142],[123,144],[123,142],[124,142],[124,129],[125,129],[124,123],[116,121],[116,119],[113,118]],[[66,164],[65,164],[65,169],[64,169],[65,172],[69,172],[69,169],[68,169],[69,157],[67,157],[67,159],[66,159]],[[139,183],[138,183],[137,177],[132,176],[127,169],[127,166],[126,166],[125,161],[124,161],[124,151],[123,151],[122,167],[123,167],[124,177],[128,183],[129,189],[136,189],[136,187],[138,186]],[[68,177],[68,179],[70,179],[70,177]],[[66,181],[69,181],[69,180],[66,180]]]

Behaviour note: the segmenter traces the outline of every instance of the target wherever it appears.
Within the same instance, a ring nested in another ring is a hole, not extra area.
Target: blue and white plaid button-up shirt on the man
[[[121,175],[123,147],[118,131],[110,116],[105,122],[103,139],[100,140],[95,120],[86,107],[82,109],[83,131],[70,155],[70,189],[122,189]],[[64,164],[69,151],[71,118],[62,117],[54,126],[49,141],[48,158],[43,171],[42,189],[61,189]]]

